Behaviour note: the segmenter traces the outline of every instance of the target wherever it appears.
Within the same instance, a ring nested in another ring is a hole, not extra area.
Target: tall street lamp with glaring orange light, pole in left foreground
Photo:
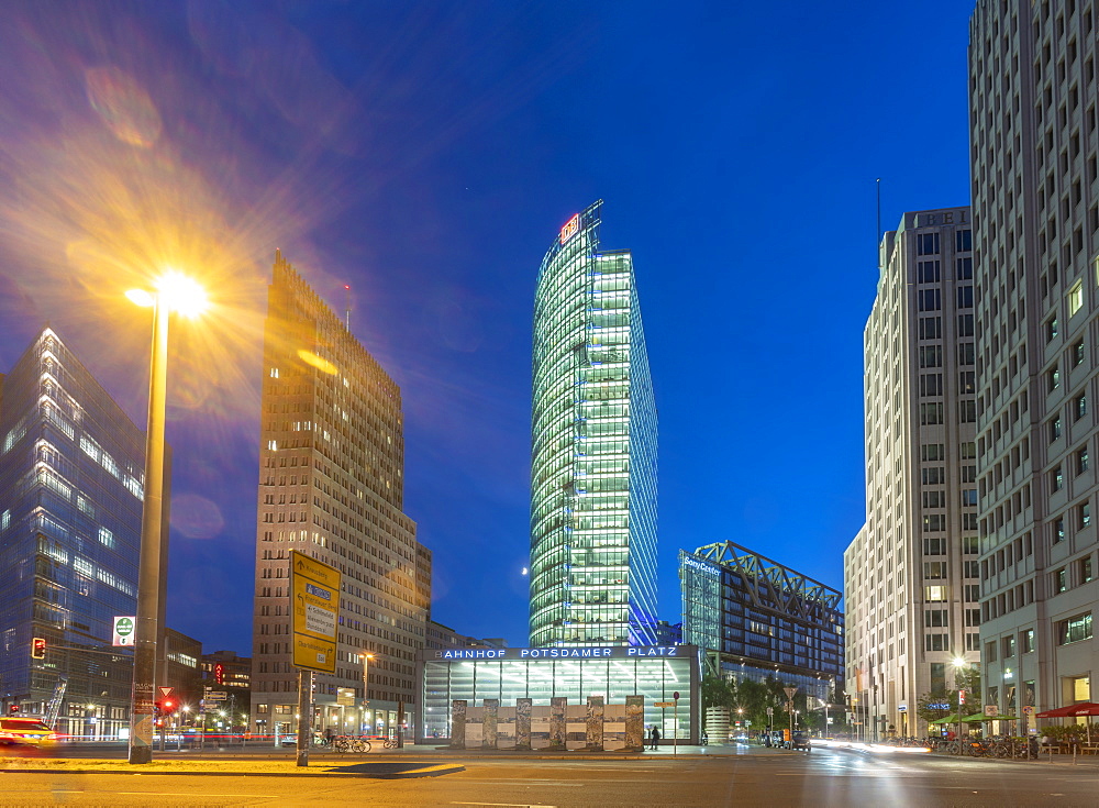
[[[134,678],[130,704],[130,763],[153,760],[153,689],[156,684],[156,644],[160,633],[160,523],[164,513],[164,410],[167,395],[168,316],[196,316],[206,308],[206,294],[190,278],[167,273],[155,291],[131,289],[126,297],[153,309],[149,358],[148,421],[145,424],[145,489],[137,569],[137,620],[134,627]]]

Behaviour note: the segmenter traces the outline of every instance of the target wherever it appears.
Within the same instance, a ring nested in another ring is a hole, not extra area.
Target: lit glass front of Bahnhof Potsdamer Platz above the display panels
[[[588,650],[588,649],[586,649]],[[425,738],[449,738],[451,707],[465,699],[470,707],[485,699],[499,699],[501,708],[514,708],[529,698],[532,706],[547,707],[564,697],[570,706],[586,705],[588,696],[602,696],[607,705],[624,705],[626,696],[645,699],[645,726],[670,726],[671,712],[662,715],[657,702],[669,702],[679,694],[680,737],[692,737],[698,701],[700,661],[690,645],[642,647],[591,647],[590,657],[531,656],[545,649],[460,649],[424,651],[423,718]],[[639,655],[628,655],[628,651]],[[579,652],[575,652],[579,653]],[[662,654],[648,656],[648,653]],[[477,654],[481,656],[478,657]],[[664,724],[662,724],[664,722]],[[670,734],[665,734],[671,738]]]

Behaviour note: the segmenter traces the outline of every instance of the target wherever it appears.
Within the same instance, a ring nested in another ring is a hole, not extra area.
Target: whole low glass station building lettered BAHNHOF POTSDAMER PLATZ
[[[602,699],[606,748],[614,749],[624,744],[630,696],[641,697],[646,733],[656,726],[668,743],[698,739],[701,664],[693,645],[431,650],[420,653],[418,667],[423,694],[419,743],[451,741],[455,701],[465,710],[467,743],[488,738],[480,728],[487,700],[498,739],[493,745],[512,746],[515,709],[529,699],[531,743],[546,746],[551,707],[564,699],[567,743],[580,748],[589,697],[597,697]]]

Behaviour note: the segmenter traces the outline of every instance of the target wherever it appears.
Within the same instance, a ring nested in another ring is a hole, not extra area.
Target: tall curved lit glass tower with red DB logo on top
[[[554,239],[534,303],[531,645],[656,642],[656,405],[633,259],[596,202]]]

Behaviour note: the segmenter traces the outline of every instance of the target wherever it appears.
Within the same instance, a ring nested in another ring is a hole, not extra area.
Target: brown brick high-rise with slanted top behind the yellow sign
[[[401,510],[403,421],[400,388],[276,253],[264,341],[256,530],[251,716],[257,731],[296,726],[291,550],[336,567],[343,577],[336,672],[317,675],[314,727],[387,733],[396,727],[398,705],[417,700],[431,552]],[[366,655],[373,658],[364,665]]]

